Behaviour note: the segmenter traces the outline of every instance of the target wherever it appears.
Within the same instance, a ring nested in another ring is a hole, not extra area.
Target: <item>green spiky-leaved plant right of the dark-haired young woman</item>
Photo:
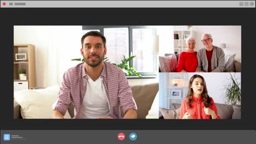
[[[237,79],[230,74],[230,82],[224,86],[225,89],[225,98],[226,104],[236,105],[237,103],[241,104],[241,88],[240,83],[237,82]]]

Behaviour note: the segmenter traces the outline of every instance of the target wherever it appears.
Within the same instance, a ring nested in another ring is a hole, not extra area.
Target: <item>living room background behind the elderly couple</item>
[[[159,39],[159,72],[177,72],[175,68],[179,54],[187,50],[185,39],[193,37],[194,51],[198,51],[203,47],[201,43],[203,33],[211,34],[213,45],[223,49],[226,65],[231,61],[231,70],[224,72],[241,72],[241,26],[170,26],[169,29],[172,34],[168,35],[170,43],[167,43],[166,47],[161,46],[162,41]],[[173,65],[173,68],[168,68],[170,65]]]

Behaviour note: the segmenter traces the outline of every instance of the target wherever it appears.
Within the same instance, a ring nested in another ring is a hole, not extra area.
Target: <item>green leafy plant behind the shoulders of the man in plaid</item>
[[[135,58],[136,56],[131,56],[129,58],[126,58],[124,55],[123,55],[123,59],[121,60],[120,63],[112,63],[114,65],[116,65],[117,67],[121,68],[124,73],[128,76],[132,76],[132,74],[136,74],[138,77],[141,77],[141,75],[133,68],[132,65],[129,65],[128,62],[131,61],[131,59]],[[103,58],[103,60],[105,62],[108,62],[109,59],[108,57],[105,57]],[[81,58],[75,58],[75,59],[71,59],[71,61],[81,61],[81,62],[84,62],[84,59],[81,59]],[[110,62],[109,62],[110,63]]]

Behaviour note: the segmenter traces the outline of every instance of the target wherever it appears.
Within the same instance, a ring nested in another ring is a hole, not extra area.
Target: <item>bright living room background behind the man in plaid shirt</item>
[[[15,59],[14,56],[14,118],[52,118],[53,109],[51,106],[57,99],[63,73],[81,63],[81,61],[71,60],[82,58],[80,39],[88,31],[83,27],[86,26],[14,26],[14,52],[26,53],[27,55],[27,59],[24,61]],[[106,57],[109,59],[108,62],[118,63],[116,55],[119,56],[119,62],[123,55],[126,58],[129,57],[130,51],[128,50],[131,49],[129,45],[133,46],[131,55],[136,55],[132,61],[133,68],[142,77],[133,74],[127,76],[127,80],[138,107],[138,118],[158,118],[159,80],[158,59],[156,58],[158,55],[158,38],[155,37],[155,27],[138,26],[134,28],[131,26],[123,29],[120,27],[117,29],[106,27],[104,29],[106,30],[104,35],[107,35],[105,36],[107,38]],[[130,43],[129,39],[117,39],[129,38],[130,36],[125,32],[130,31],[130,29],[140,37],[137,38],[136,35],[133,35],[135,44]],[[154,31],[151,32],[152,29]],[[124,33],[119,34],[116,33],[117,31],[124,31]],[[147,35],[153,38],[153,43],[146,43],[150,39]],[[120,46],[127,49],[120,49]],[[114,50],[111,50],[112,47]],[[26,70],[26,78],[22,80],[19,74],[24,69]],[[33,86],[27,84],[32,82],[34,83]],[[28,86],[19,86],[18,83]],[[66,118],[72,118],[72,111],[68,111],[66,115]]]

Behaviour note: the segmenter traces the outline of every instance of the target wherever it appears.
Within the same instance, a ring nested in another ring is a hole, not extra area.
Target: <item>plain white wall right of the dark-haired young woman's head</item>
[[[230,82],[230,73],[188,73],[188,80],[195,74],[201,75],[205,79],[208,94],[213,98],[214,102],[225,104],[224,86]],[[241,73],[231,74],[232,76],[235,75],[238,83],[241,83]]]

